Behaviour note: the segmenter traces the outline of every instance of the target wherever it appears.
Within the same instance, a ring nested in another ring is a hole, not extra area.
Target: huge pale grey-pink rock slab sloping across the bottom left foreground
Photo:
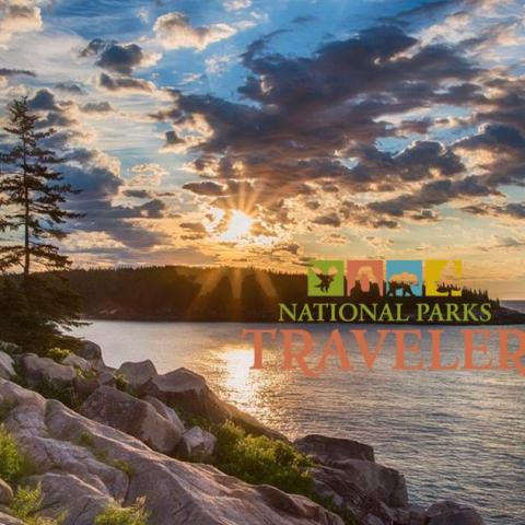
[[[150,525],[343,525],[339,516],[306,498],[271,487],[253,487],[214,467],[160,454],[59,401],[35,393],[25,395],[24,388],[8,383],[0,380],[0,396],[9,395],[18,406],[5,424],[30,460],[37,459],[36,475],[47,476],[42,479],[44,498],[46,502],[56,498],[57,511],[82,515],[88,502],[96,506],[98,492],[103,499],[113,498],[124,505],[145,498]],[[124,466],[133,475],[128,477]],[[67,478],[55,480],[51,474]],[[84,491],[84,483],[97,492]],[[74,523],[93,522],[79,518]]]

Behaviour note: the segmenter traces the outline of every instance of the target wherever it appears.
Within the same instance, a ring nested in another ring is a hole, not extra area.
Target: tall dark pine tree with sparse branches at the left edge
[[[77,191],[54,170],[61,161],[42,144],[55,130],[38,130],[39,117],[30,112],[27,97],[10,103],[8,113],[4,130],[14,144],[0,154],[0,231],[5,234],[0,244],[0,271],[22,272],[18,304],[23,308],[0,315],[18,319],[20,328],[10,329],[12,342],[42,350],[74,342],[60,328],[79,325],[79,300],[58,273],[71,262],[55,244],[66,235],[61,228],[66,221],[79,217],[62,208],[68,194]],[[4,295],[13,295],[12,287],[4,278]],[[9,304],[3,306],[9,308]]]

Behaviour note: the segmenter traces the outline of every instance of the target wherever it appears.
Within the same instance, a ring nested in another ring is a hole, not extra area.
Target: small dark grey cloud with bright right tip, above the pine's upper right
[[[91,40],[80,56],[96,56],[96,66],[120,74],[131,74],[136,68],[154,66],[162,57],[160,54],[145,52],[137,44],[119,44],[102,38]]]

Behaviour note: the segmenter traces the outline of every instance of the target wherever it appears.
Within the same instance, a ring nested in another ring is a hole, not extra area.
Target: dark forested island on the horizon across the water
[[[402,302],[416,310],[422,298],[366,294],[310,298],[305,273],[256,268],[164,266],[116,269],[74,269],[62,273],[82,301],[88,318],[115,320],[185,320],[273,323],[279,303],[336,304]],[[359,288],[359,287],[358,287]],[[430,304],[490,304],[488,324],[525,324],[525,314],[500,305],[486,290],[464,289],[460,298],[424,298]],[[417,323],[415,320],[415,323]],[[457,323],[451,323],[457,324]]]

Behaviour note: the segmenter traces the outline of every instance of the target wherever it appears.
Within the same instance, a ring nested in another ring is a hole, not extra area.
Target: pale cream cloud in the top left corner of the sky
[[[42,30],[40,9],[30,0],[0,0],[0,45],[16,33]]]

